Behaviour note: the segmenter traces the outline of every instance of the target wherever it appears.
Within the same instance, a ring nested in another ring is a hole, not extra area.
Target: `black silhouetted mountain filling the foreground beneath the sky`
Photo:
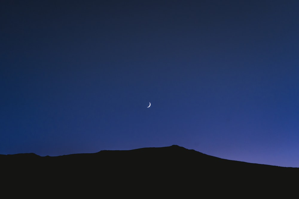
[[[285,198],[296,194],[299,179],[299,168],[225,160],[177,145],[0,155],[0,163],[2,195],[10,198]]]

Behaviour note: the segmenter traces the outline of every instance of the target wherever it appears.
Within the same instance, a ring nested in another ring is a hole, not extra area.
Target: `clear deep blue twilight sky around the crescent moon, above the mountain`
[[[1,1],[0,154],[177,144],[299,167],[298,8]]]

